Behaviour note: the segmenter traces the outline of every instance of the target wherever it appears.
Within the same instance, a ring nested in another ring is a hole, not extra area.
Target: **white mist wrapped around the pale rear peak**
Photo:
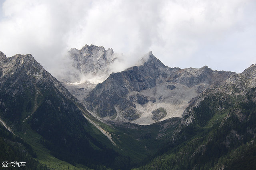
[[[101,52],[102,51],[99,51],[99,53]],[[124,71],[125,69],[128,69],[134,65],[142,65],[143,63],[140,62],[140,59],[145,56],[147,57],[148,54],[143,55],[140,58],[138,58],[138,56],[140,55],[124,55],[122,53],[106,55],[107,58],[110,57],[111,59],[114,59],[114,61],[112,63],[106,63],[106,67],[97,69],[96,72],[92,70],[92,73],[84,73],[82,69],[80,70],[75,66],[75,61],[72,59],[70,54],[67,53],[66,61],[63,62],[62,65],[62,71],[60,71],[60,67],[58,67],[59,72],[56,73],[56,78],[71,85],[78,85],[83,83],[102,83],[109,77],[111,73]]]

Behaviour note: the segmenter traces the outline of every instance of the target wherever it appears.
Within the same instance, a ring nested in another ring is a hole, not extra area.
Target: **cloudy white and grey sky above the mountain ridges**
[[[240,73],[256,63],[256,0],[0,0],[7,57],[31,53],[51,72],[85,44]]]

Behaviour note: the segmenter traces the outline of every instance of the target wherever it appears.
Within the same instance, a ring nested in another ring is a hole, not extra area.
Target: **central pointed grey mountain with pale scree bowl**
[[[152,52],[140,65],[112,73],[82,100],[96,117],[150,125],[182,117],[190,101],[205,89],[221,85],[235,73],[212,71],[207,66],[169,68]]]

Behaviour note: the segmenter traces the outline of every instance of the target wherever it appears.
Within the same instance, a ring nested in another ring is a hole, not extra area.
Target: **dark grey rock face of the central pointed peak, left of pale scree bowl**
[[[106,81],[98,84],[84,99],[88,109],[96,111],[100,117],[116,116],[115,105],[119,106],[122,115],[129,121],[138,119],[140,113],[136,105],[126,99],[130,91],[140,92],[156,87],[156,77],[166,77],[171,70],[163,65],[152,53],[143,65],[134,66],[121,73],[112,73]],[[167,72],[167,73],[166,73]],[[137,103],[145,104],[148,99],[142,95],[135,95]]]

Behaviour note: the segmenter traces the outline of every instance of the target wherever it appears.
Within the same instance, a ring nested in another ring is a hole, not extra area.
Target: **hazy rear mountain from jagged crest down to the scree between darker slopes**
[[[58,77],[70,93],[82,101],[92,89],[108,78],[118,62],[120,55],[112,49],[96,45],[85,45],[82,49],[72,48],[68,51],[71,67]]]

